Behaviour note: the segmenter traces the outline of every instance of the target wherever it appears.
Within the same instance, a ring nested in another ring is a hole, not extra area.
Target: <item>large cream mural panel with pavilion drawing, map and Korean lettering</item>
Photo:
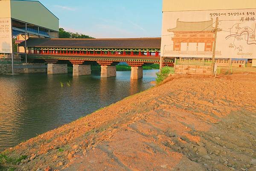
[[[161,55],[256,59],[256,9],[163,12]]]

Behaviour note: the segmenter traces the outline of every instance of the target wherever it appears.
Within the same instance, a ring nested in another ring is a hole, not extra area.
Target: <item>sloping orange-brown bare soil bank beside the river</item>
[[[256,171],[256,75],[171,76],[9,150],[22,154],[20,171]]]

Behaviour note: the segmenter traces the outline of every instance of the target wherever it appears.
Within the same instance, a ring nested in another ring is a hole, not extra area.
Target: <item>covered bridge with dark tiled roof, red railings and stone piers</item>
[[[25,46],[25,43],[21,43]],[[116,76],[116,64],[131,66],[131,79],[143,77],[143,64],[160,63],[161,38],[122,39],[40,39],[26,41],[27,58],[31,62],[47,62],[48,74],[67,73],[73,64],[73,75],[89,75],[90,64],[101,65],[101,76]],[[172,65],[165,59],[164,65]]]

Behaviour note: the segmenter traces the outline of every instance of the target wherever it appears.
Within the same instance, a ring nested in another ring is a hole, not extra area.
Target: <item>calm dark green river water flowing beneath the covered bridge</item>
[[[130,80],[129,71],[112,78],[0,75],[0,151],[152,87],[157,70],[143,72],[138,81]]]

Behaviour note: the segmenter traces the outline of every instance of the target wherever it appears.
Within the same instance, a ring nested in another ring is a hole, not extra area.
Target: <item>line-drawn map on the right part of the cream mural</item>
[[[229,28],[229,33],[226,37],[227,41],[230,41],[229,48],[243,53],[244,46],[256,46],[255,29],[251,26],[246,26],[242,23],[236,23]]]

